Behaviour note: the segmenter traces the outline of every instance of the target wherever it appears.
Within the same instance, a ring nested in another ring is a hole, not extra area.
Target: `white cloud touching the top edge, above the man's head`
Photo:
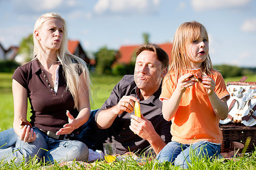
[[[99,0],[94,6],[96,14],[150,14],[155,12],[160,0]]]

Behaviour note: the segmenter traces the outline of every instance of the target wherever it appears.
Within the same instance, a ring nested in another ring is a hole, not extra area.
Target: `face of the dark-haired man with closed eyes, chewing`
[[[154,52],[144,50],[136,59],[134,80],[137,87],[144,92],[154,93],[158,90],[164,76],[162,63],[156,58]]]

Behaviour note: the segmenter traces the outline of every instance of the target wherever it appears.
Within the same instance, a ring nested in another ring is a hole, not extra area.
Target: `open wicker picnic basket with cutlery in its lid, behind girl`
[[[256,90],[254,90],[256,87],[256,82],[227,82],[226,86],[230,93],[230,99],[238,100],[237,107],[234,107],[232,109],[233,113],[241,112],[240,120],[242,121],[236,121],[236,118],[234,118],[234,114],[233,116],[229,115],[229,117],[226,118],[226,120],[220,121],[220,129],[223,137],[221,144],[221,153],[234,151],[234,147],[236,147],[234,146],[234,143],[242,143],[242,145],[245,146],[244,148],[247,148],[246,152],[253,152],[256,147]],[[244,88],[244,90],[241,92],[243,94],[239,96],[240,99],[238,99],[238,95],[235,96],[232,94],[232,92],[229,90],[230,87],[232,89],[234,89],[234,87],[236,87],[237,89]],[[251,89],[253,90],[251,91]],[[246,94],[246,92],[251,94],[248,95]],[[246,95],[249,97],[246,98]],[[244,109],[240,107],[241,104],[243,104]],[[231,111],[231,105],[232,104],[229,101],[229,111]],[[247,117],[248,115],[250,117],[248,117],[247,119],[244,118],[246,115]],[[246,143],[246,140],[248,141],[248,143]],[[240,152],[241,151],[242,147]]]

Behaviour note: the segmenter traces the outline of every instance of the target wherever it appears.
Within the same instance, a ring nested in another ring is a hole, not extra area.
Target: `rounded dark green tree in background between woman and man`
[[[117,56],[117,50],[108,49],[106,46],[103,46],[95,53],[96,56],[96,72],[98,74],[110,74],[111,66],[115,61]]]

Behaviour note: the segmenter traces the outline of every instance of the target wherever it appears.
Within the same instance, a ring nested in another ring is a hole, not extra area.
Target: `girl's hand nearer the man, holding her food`
[[[184,74],[178,79],[176,90],[179,90],[182,94],[186,91],[187,87],[193,86],[195,82],[189,79],[192,73]]]

